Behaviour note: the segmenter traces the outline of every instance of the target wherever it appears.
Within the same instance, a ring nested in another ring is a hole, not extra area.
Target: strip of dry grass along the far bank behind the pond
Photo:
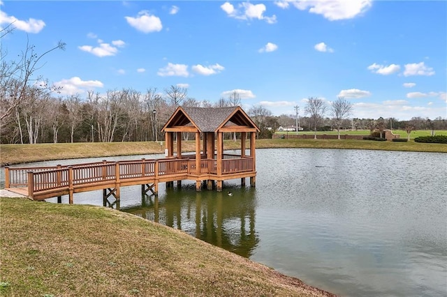
[[[248,143],[248,141],[247,141]],[[247,144],[247,147],[248,144]],[[239,149],[240,141],[226,140],[224,149]],[[446,144],[423,144],[418,142],[374,142],[351,139],[257,139],[256,148],[345,148],[383,151],[425,151],[447,153]],[[182,142],[183,151],[194,151],[195,142]],[[75,158],[108,157],[115,155],[147,155],[164,153],[160,142],[85,142],[74,144],[1,144],[1,166],[65,160]]]

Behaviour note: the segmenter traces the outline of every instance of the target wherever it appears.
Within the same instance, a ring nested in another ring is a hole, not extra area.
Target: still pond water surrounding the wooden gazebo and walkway
[[[265,149],[256,167],[256,188],[135,186],[119,206],[342,296],[447,296],[446,154]],[[102,192],[74,201],[102,205]]]

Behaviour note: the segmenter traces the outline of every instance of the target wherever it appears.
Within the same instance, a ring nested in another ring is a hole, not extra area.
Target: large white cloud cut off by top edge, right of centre
[[[323,15],[330,21],[352,19],[372,6],[372,0],[281,0],[274,3],[283,9],[291,4],[299,10]]]

